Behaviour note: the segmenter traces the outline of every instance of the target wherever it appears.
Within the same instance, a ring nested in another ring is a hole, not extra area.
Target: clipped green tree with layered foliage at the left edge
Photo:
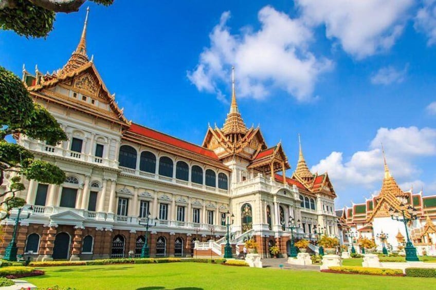
[[[13,207],[23,206],[26,201],[16,197],[17,191],[25,189],[22,178],[42,183],[61,184],[65,173],[56,165],[35,160],[31,151],[21,145],[6,141],[8,136],[24,134],[30,138],[59,144],[67,140],[59,123],[41,105],[34,104],[21,80],[0,66],[0,184],[9,175],[9,188],[0,194],[8,196],[0,206],[9,217]]]

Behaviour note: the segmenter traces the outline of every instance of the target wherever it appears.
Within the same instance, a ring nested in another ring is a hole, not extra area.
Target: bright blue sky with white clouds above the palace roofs
[[[229,110],[327,171],[336,207],[377,194],[383,143],[403,190],[436,195],[436,0],[87,2],[45,39],[0,31],[0,65],[61,68],[90,7],[87,52],[126,118],[201,145]]]

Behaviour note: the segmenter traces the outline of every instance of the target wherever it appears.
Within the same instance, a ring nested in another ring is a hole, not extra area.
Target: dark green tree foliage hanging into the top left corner
[[[86,0],[0,0],[0,27],[26,37],[46,37],[55,12],[75,12]],[[111,5],[114,0],[91,0]]]

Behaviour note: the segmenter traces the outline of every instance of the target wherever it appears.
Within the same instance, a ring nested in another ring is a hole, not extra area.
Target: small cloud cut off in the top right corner
[[[423,1],[423,7],[416,13],[414,27],[427,35],[428,46],[436,43],[436,0]]]

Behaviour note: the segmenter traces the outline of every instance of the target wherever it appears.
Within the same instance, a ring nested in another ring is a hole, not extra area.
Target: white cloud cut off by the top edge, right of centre
[[[326,36],[363,59],[392,47],[413,0],[297,0],[305,22],[325,25]]]

